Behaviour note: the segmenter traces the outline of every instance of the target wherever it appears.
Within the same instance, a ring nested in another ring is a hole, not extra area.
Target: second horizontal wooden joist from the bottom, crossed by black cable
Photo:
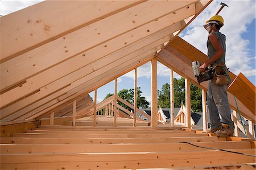
[[[197,146],[228,149],[251,148],[249,141],[192,142]],[[111,153],[111,152],[173,152],[205,151],[186,143],[133,143],[133,144],[1,144],[1,154],[61,154],[61,153]]]

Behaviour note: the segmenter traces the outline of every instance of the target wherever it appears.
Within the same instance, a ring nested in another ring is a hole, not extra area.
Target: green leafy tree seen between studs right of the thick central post
[[[174,107],[181,107],[181,102],[185,103],[185,79],[183,77],[179,80],[174,78]],[[191,84],[191,109],[202,111],[201,102],[201,89]],[[162,90],[158,91],[158,105],[163,108],[170,107],[170,84],[164,84]]]

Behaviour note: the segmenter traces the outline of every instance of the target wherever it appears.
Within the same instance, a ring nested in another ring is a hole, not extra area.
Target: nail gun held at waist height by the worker
[[[208,67],[207,71],[201,73],[200,72],[200,61],[193,61],[192,62],[192,68],[193,68],[193,73],[197,79],[197,82],[200,84],[200,82],[207,81],[207,80],[212,80],[213,78],[213,73],[215,71],[214,67]]]

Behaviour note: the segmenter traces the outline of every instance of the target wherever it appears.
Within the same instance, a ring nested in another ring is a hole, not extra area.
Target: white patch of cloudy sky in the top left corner
[[[0,15],[7,15],[42,1],[0,1]]]

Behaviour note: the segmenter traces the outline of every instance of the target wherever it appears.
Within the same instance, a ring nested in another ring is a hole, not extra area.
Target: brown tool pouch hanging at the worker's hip
[[[213,84],[222,86],[222,85],[228,85],[229,84],[229,79],[228,76],[226,75],[226,66],[216,66],[215,72],[213,74]]]

